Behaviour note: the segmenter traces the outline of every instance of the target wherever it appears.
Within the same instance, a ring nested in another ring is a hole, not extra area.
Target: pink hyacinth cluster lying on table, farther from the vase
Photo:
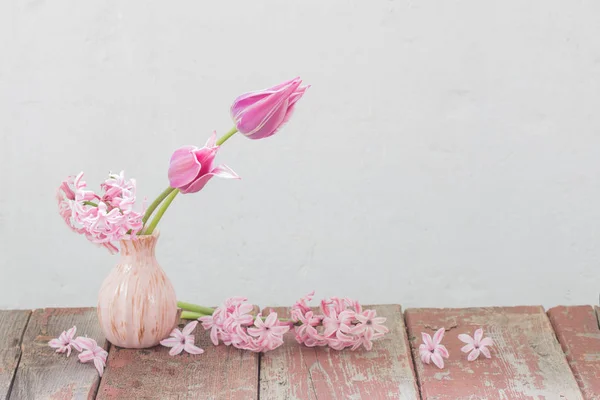
[[[321,301],[320,312],[315,314],[308,306],[314,292],[298,300],[291,310],[296,341],[308,347],[329,346],[335,350],[373,347],[373,340],[389,332],[383,325],[384,317],[375,310],[363,310],[355,300],[332,297]]]

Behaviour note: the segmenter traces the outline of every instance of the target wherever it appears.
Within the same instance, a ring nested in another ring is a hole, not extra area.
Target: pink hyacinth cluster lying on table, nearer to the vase
[[[232,297],[217,307],[212,315],[199,320],[205,330],[210,329],[210,339],[216,346],[219,341],[238,349],[263,352],[283,344],[283,335],[290,330],[289,323],[279,321],[277,313],[266,318],[253,317],[252,304],[244,297]]]

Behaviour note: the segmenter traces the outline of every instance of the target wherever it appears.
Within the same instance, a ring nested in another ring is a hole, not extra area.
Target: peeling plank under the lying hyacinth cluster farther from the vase
[[[401,307],[365,307],[386,317],[390,329],[371,351],[309,348],[287,334],[283,346],[261,356],[260,398],[418,399]],[[287,308],[275,311],[289,316]]]

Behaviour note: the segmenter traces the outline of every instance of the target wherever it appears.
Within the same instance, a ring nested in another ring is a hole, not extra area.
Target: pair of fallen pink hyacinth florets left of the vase
[[[98,374],[102,376],[108,352],[104,350],[94,339],[87,337],[75,338],[77,327],[64,331],[57,339],[52,339],[48,342],[48,346],[56,349],[57,353],[67,353],[67,357],[71,355],[71,348],[79,351],[79,361],[87,363],[92,361],[98,370]]]

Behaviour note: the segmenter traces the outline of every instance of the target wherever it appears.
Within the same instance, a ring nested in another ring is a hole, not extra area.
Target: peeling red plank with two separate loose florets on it
[[[582,399],[542,307],[409,309],[409,340],[423,399]],[[419,358],[421,332],[446,329],[444,369]],[[483,328],[494,340],[492,358],[469,362],[458,335]]]

